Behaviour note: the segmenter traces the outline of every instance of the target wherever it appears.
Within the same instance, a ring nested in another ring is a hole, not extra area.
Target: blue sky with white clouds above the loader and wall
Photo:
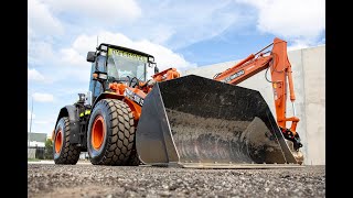
[[[31,131],[47,134],[87,92],[97,36],[181,73],[245,58],[274,37],[289,50],[325,44],[324,0],[29,0],[28,9],[28,129],[32,114]]]

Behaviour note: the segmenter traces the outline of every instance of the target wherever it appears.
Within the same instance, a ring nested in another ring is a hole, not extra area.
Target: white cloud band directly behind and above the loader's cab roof
[[[185,61],[182,55],[176,54],[162,45],[151,43],[147,40],[132,41],[121,33],[111,33],[107,31],[101,31],[98,33],[98,35],[99,43],[120,45],[153,55],[160,70],[169,67],[175,67],[179,70],[184,70],[186,68],[196,66],[195,64]],[[96,35],[79,35],[74,41],[71,48],[65,48],[62,51],[65,52],[63,54],[66,54],[63,59],[72,59],[72,63],[77,63],[77,65],[81,63],[87,65],[86,59],[82,55],[86,55],[88,51],[94,51],[95,47]],[[74,57],[77,59],[75,59]],[[82,69],[81,73],[83,72]],[[87,66],[85,73],[89,73],[89,70],[90,67]],[[151,69],[149,69],[149,72],[151,72]],[[149,73],[149,75],[151,75],[151,73]],[[85,79],[87,77],[85,76]]]

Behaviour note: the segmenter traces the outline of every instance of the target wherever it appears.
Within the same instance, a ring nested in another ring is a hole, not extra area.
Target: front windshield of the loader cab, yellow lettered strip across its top
[[[127,80],[132,77],[146,81],[146,56],[109,48],[107,59],[108,81]]]

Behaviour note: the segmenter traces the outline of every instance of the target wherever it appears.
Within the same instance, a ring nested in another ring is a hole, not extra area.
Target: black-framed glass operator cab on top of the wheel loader
[[[146,81],[147,66],[156,67],[152,55],[106,43],[101,43],[96,52],[88,52],[87,62],[92,63],[90,73],[95,75],[89,81],[89,105],[108,89],[110,82],[133,86]]]

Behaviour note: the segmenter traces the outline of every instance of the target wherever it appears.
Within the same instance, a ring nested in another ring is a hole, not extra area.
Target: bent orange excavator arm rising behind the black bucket
[[[271,51],[265,52],[272,46]],[[269,53],[269,55],[267,55]],[[267,45],[256,54],[250,54],[244,61],[237,63],[227,70],[215,75],[214,80],[237,85],[247,78],[258,74],[264,69],[269,69],[271,75],[277,123],[284,136],[293,143],[293,148],[298,151],[302,144],[298,132],[296,131],[299,118],[296,117],[295,109],[295,89],[292,80],[291,65],[287,55],[287,42],[280,38],[275,38],[274,43]],[[266,72],[267,74],[267,72]],[[290,101],[293,107],[293,117],[286,117],[287,106],[287,87],[289,87]],[[291,122],[290,128],[287,128],[287,122]]]

